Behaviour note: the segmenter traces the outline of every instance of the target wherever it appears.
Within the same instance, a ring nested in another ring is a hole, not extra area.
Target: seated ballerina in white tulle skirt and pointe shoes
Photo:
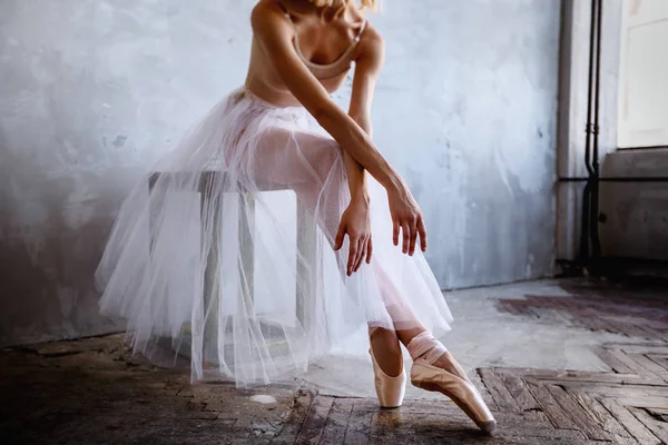
[[[104,314],[136,352],[168,338],[194,380],[267,384],[366,325],[384,407],[409,379],[495,421],[435,336],[452,316],[424,259],[426,229],[372,140],[384,42],[374,0],[261,0],[245,85],[124,201],[96,273]],[[348,112],[331,99],[354,63]],[[295,248],[295,245],[297,246]],[[399,246],[399,247],[397,247]]]

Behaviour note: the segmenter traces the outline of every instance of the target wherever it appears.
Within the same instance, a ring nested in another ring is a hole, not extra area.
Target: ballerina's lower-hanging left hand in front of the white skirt
[[[348,236],[350,251],[346,273],[348,276],[360,269],[362,261],[371,263],[373,243],[371,241],[371,218],[367,204],[354,204],[341,216],[334,250],[341,249],[345,235]]]

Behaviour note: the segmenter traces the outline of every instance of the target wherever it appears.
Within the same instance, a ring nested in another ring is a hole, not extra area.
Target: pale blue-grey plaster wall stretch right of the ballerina
[[[377,141],[444,288],[552,273],[559,0],[386,1]]]

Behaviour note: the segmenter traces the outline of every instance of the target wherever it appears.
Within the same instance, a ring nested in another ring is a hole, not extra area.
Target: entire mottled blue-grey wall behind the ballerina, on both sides
[[[560,1],[385,3],[375,131],[424,209],[441,285],[549,275]],[[242,83],[252,6],[0,2],[0,344],[118,327],[91,278],[114,215]]]

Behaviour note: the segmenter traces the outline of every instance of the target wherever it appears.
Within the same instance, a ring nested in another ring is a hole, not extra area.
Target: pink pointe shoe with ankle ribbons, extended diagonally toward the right
[[[433,365],[448,352],[439,340],[425,332],[415,336],[407,349],[413,358],[411,383],[414,386],[450,397],[484,433],[497,427],[494,416],[471,382]]]

